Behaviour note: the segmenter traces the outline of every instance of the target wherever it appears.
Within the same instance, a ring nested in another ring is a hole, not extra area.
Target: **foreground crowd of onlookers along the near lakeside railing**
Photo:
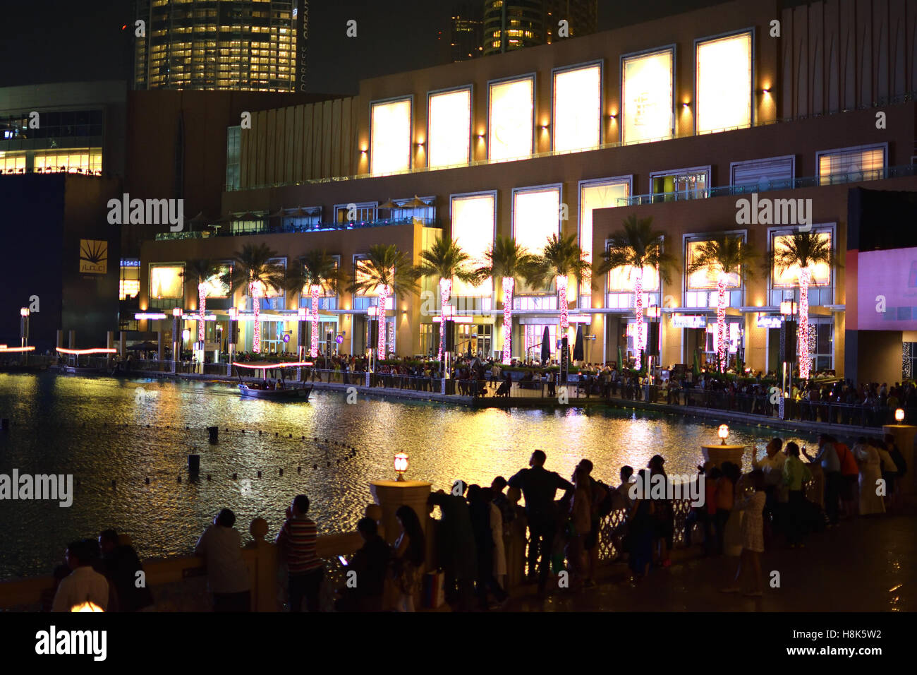
[[[890,434],[881,440],[861,437],[848,447],[823,433],[812,454],[775,437],[764,456],[753,457],[745,476],[731,462],[698,467],[693,492],[698,500],[680,519],[666,487],[665,462],[656,455],[636,472],[621,467],[616,484],[609,485],[593,477],[589,459],[580,460],[568,480],[548,470],[546,454],[536,450],[528,467],[509,479],[498,476],[486,487],[457,480],[449,491],[432,492],[425,515],[433,518],[438,509],[438,518],[431,528],[424,527],[412,507],[402,505],[395,513],[399,531],[392,546],[381,537],[376,521],[362,518],[357,530],[363,546],[353,557],[341,557],[347,582],[337,589],[335,607],[340,612],[390,608],[385,602],[389,588],[394,589],[389,604],[396,611],[413,612],[422,593],[432,592],[425,588],[426,577],[431,577],[426,572],[433,572],[434,581],[438,575],[445,600],[456,611],[502,607],[509,597],[511,570],[527,569],[527,580],[540,593],[549,582],[574,591],[588,589],[596,583],[602,520],[613,512],[618,517],[605,532],[607,543],[615,561],[626,559],[635,581],[646,579],[651,568],[670,566],[676,543],[683,539],[691,547],[701,534],[704,556],[739,558],[735,581],[723,591],[759,596],[760,557],[766,550],[781,541],[803,547],[812,532],[857,515],[900,509],[900,481],[908,471]],[[816,466],[823,499],[810,501],[806,489]],[[637,489],[650,482],[663,487],[649,494]],[[520,505],[523,499],[525,506]],[[309,507],[309,499],[297,495],[274,539],[287,570],[291,612],[304,606],[309,612],[323,608],[326,563],[316,553],[317,528]],[[231,510],[221,510],[194,547],[195,555],[204,558],[215,612],[246,612],[251,606],[249,568],[235,523]],[[429,533],[436,544],[432,559],[426,546]],[[137,583],[143,575],[137,553],[115,530],[73,542],[65,562],[54,570],[56,585],[45,598],[50,611],[71,611],[90,602],[104,611],[130,612],[153,603],[146,585]]]

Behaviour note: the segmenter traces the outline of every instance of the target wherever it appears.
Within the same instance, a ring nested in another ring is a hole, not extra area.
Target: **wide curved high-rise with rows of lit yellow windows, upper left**
[[[305,89],[307,0],[137,0],[135,89]],[[136,27],[135,27],[136,28]]]

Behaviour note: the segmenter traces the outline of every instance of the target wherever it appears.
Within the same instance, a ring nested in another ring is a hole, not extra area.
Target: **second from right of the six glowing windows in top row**
[[[622,140],[625,143],[668,139],[674,129],[672,113],[672,49],[625,56],[621,69]]]

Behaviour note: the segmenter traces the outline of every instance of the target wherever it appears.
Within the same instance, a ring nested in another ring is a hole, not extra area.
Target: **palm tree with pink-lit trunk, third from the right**
[[[663,250],[665,232],[653,230],[653,219],[638,219],[631,214],[624,219],[623,229],[612,234],[597,275],[630,265],[635,271],[635,314],[637,325],[636,362],[643,363],[645,333],[643,329],[643,268],[655,267],[659,277],[668,284],[675,258]]]

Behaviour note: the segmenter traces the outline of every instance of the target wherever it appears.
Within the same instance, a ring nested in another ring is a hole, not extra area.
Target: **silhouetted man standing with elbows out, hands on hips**
[[[529,575],[538,565],[538,591],[544,592],[547,587],[547,572],[551,561],[551,544],[557,531],[554,515],[554,496],[558,489],[564,490],[563,499],[569,501],[573,497],[573,486],[555,471],[545,469],[547,456],[541,450],[532,453],[528,466],[510,478],[511,488],[522,490],[525,497],[525,512],[528,515],[528,530],[530,534],[528,545]]]

